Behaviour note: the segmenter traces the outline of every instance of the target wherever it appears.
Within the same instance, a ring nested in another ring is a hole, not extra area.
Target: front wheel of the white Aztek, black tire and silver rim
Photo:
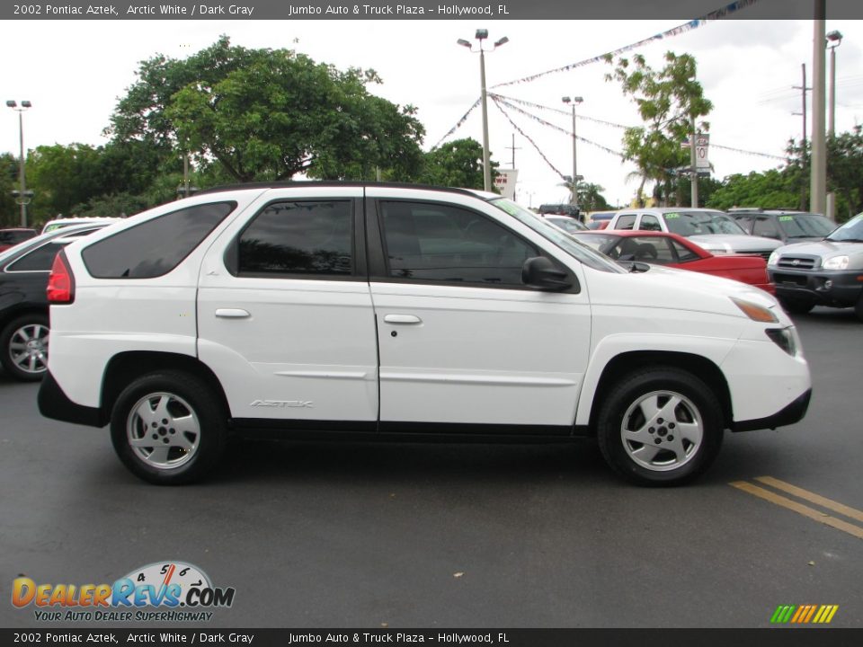
[[[658,407],[654,415],[651,406]],[[689,371],[673,367],[621,379],[597,418],[602,456],[639,485],[679,485],[703,474],[722,446],[724,429],[716,395]]]

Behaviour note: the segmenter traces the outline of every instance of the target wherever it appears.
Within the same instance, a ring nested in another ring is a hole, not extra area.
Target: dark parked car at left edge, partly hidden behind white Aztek
[[[54,257],[67,244],[108,224],[58,229],[0,253],[0,364],[12,377],[39,380],[48,368],[45,288]]]

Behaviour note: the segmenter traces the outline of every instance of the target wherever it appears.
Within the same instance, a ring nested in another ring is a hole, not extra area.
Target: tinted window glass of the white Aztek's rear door
[[[239,271],[350,275],[351,222],[349,200],[271,204],[240,235]]]

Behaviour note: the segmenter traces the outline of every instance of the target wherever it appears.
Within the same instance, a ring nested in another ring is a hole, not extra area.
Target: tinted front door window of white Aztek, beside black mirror
[[[382,202],[389,275],[398,279],[522,285],[524,261],[538,256],[491,218],[432,203]]]

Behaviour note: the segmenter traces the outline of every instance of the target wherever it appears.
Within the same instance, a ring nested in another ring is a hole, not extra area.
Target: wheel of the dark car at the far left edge
[[[48,316],[15,317],[0,332],[0,363],[12,377],[37,382],[48,372]],[[24,357],[22,357],[24,353]]]

